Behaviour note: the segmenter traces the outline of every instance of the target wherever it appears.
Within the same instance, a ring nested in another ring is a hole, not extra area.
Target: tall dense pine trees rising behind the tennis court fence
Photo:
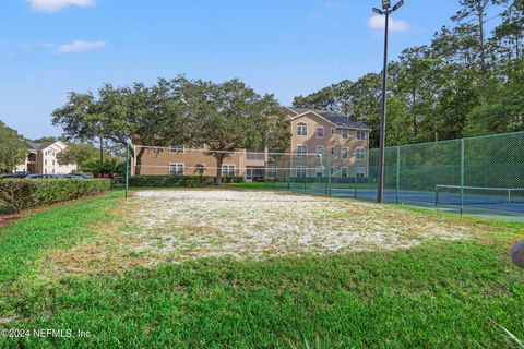
[[[458,2],[453,26],[389,65],[388,145],[524,131],[524,0]],[[345,80],[294,105],[365,122],[378,146],[380,76]]]

